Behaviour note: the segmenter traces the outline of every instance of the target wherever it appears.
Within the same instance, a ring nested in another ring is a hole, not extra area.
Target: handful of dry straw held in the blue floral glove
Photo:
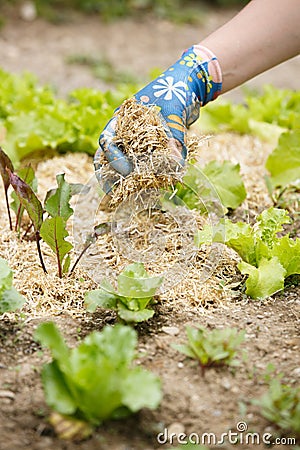
[[[172,155],[165,126],[158,108],[126,100],[118,110],[115,144],[131,161],[133,171],[119,175],[102,161],[102,178],[116,180],[109,201],[116,208],[134,192],[145,189],[169,188],[183,176],[182,165]]]

